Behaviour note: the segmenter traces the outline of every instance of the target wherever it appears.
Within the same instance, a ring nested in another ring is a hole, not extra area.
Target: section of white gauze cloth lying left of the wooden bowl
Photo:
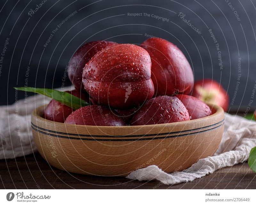
[[[61,88],[56,90],[63,91]],[[71,91],[72,86],[65,87],[66,90]],[[36,107],[50,101],[43,95],[34,95],[12,105],[0,106],[0,159],[13,159],[36,151],[30,114]]]

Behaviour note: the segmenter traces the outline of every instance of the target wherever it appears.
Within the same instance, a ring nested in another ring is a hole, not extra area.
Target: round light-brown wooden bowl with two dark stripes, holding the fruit
[[[127,176],[157,165],[180,171],[217,150],[223,134],[224,111],[185,122],[143,126],[85,126],[42,117],[44,106],[31,115],[37,149],[52,166],[87,175]]]

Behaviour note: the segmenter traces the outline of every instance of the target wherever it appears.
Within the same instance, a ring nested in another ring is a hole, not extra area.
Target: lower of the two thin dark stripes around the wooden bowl
[[[221,126],[224,125],[224,122],[222,124],[220,124],[217,127],[214,127],[212,129],[209,130],[215,130]],[[153,139],[165,139],[165,138],[176,138],[176,137],[183,137],[183,136],[189,136],[189,135],[194,135],[194,134],[198,134],[198,133],[203,133],[209,130],[203,130],[203,131],[198,131],[198,132],[193,132],[193,133],[188,133],[188,134],[182,134],[182,135],[176,135],[176,136],[165,136],[165,137],[154,137],[154,138],[138,138],[138,139],[94,139],[94,138],[73,138],[73,137],[66,137],[66,136],[60,136],[60,135],[54,135],[54,134],[50,134],[50,133],[46,133],[43,132],[41,130],[37,130],[35,127],[33,127],[31,125],[33,130],[36,130],[37,132],[43,133],[45,135],[48,136],[52,136],[52,137],[57,137],[57,138],[66,138],[66,139],[76,139],[76,140],[89,140],[89,141],[137,141],[137,140],[153,140]],[[67,135],[67,133],[65,133]],[[157,135],[154,135],[157,136]],[[92,137],[92,136],[90,136]],[[106,138],[106,136],[98,136],[98,137],[102,137],[102,138]],[[109,138],[109,136],[107,136]],[[116,136],[115,136],[116,137]],[[113,137],[112,137],[113,138]]]

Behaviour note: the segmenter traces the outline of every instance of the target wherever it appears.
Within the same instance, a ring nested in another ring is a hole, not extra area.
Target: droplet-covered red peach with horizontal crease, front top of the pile
[[[139,106],[154,94],[149,54],[133,44],[99,51],[85,64],[83,84],[97,104],[114,109]]]

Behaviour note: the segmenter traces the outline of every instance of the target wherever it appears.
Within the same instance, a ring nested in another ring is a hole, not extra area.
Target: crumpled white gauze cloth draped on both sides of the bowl
[[[10,106],[0,106],[0,159],[12,159],[36,151],[33,141],[30,113],[35,107],[49,103],[51,99],[35,95],[18,100]],[[130,173],[127,178],[159,180],[172,185],[193,181],[213,173],[222,167],[233,166],[248,159],[250,150],[256,146],[256,122],[236,115],[225,114],[224,133],[214,156],[198,160],[186,170],[165,173],[155,165]]]

